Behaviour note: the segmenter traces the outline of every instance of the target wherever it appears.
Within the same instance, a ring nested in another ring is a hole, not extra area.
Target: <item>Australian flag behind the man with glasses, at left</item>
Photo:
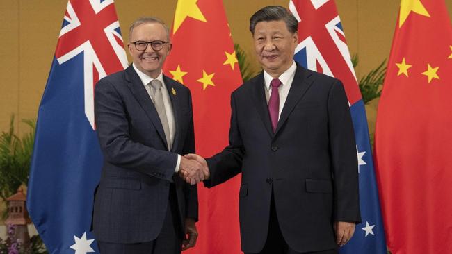
[[[97,252],[90,232],[102,154],[94,87],[127,67],[113,0],[70,0],[38,112],[27,208],[49,253]]]

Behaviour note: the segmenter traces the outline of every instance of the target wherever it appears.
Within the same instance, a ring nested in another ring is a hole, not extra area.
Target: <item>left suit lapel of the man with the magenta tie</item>
[[[267,101],[265,99],[264,91],[264,72],[261,72],[259,76],[253,81],[251,97],[255,103],[257,112],[264,122],[264,126],[268,131],[268,135],[273,137],[273,129],[271,128],[270,115],[268,115]]]

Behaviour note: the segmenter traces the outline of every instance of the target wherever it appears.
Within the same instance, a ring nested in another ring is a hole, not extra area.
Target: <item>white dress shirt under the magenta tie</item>
[[[284,71],[279,77],[277,77],[281,81],[280,87],[278,87],[278,94],[280,94],[280,110],[278,112],[278,120],[281,117],[282,108],[284,108],[284,103],[286,103],[287,95],[289,95],[289,90],[291,90],[291,85],[293,81],[293,77],[295,76],[295,71],[297,69],[297,65],[295,61],[292,63],[291,67]],[[265,98],[267,100],[270,99],[271,96],[271,81],[273,77],[264,71],[264,81],[265,81]]]

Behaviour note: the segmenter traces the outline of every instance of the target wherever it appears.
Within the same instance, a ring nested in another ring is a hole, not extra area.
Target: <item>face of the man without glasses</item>
[[[273,78],[291,67],[298,34],[289,32],[283,20],[257,23],[253,39],[257,59]]]

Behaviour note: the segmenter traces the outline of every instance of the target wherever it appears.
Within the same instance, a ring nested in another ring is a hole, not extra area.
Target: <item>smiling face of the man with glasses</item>
[[[145,51],[138,51],[131,42],[152,42],[154,40],[168,42],[169,35],[166,28],[156,22],[145,23],[134,27],[130,35],[129,44],[127,44],[136,67],[152,78],[156,78],[161,73],[163,62],[165,62],[166,56],[170,54],[171,44],[163,44],[163,49],[159,51],[154,51],[151,45],[147,44]]]

